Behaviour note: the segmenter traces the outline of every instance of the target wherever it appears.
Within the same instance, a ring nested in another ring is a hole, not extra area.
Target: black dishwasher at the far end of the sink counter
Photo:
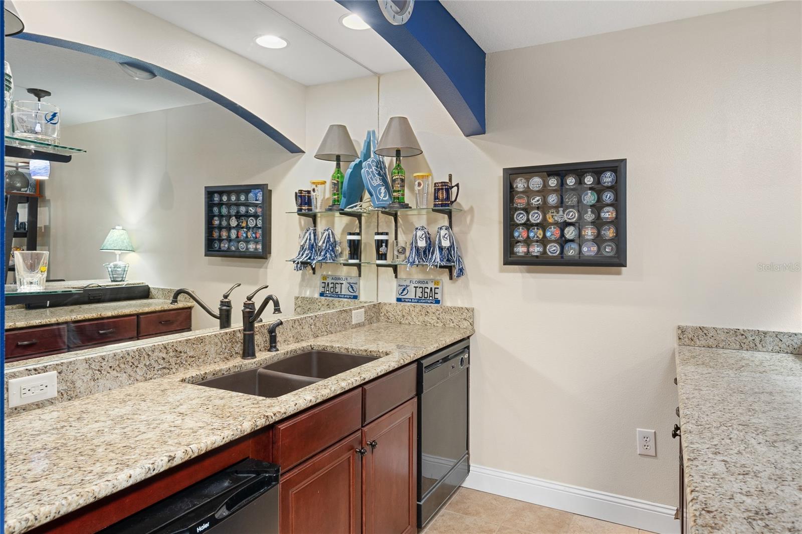
[[[468,366],[464,339],[418,361],[418,526],[460,487],[468,461]]]

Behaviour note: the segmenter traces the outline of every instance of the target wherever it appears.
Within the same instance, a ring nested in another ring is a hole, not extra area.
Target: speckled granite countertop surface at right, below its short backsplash
[[[691,534],[802,531],[802,355],[676,354]]]

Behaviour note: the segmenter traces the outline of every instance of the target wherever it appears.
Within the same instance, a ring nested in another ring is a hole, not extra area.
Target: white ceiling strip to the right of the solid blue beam
[[[485,52],[533,47],[769,2],[440,0]],[[415,16],[413,10],[412,16]]]

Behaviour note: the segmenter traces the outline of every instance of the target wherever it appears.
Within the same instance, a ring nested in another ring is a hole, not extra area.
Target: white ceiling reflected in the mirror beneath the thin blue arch
[[[133,79],[110,59],[83,52],[6,38],[5,53],[14,100],[35,100],[29,87],[51,91],[44,101],[61,108],[63,126],[209,102],[165,79]]]

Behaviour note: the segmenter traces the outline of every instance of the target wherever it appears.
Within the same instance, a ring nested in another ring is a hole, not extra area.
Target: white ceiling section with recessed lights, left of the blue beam
[[[401,71],[409,64],[374,30],[349,30],[334,0],[128,0],[128,3],[304,85]],[[284,38],[279,50],[259,35]],[[353,58],[350,59],[350,58]]]

